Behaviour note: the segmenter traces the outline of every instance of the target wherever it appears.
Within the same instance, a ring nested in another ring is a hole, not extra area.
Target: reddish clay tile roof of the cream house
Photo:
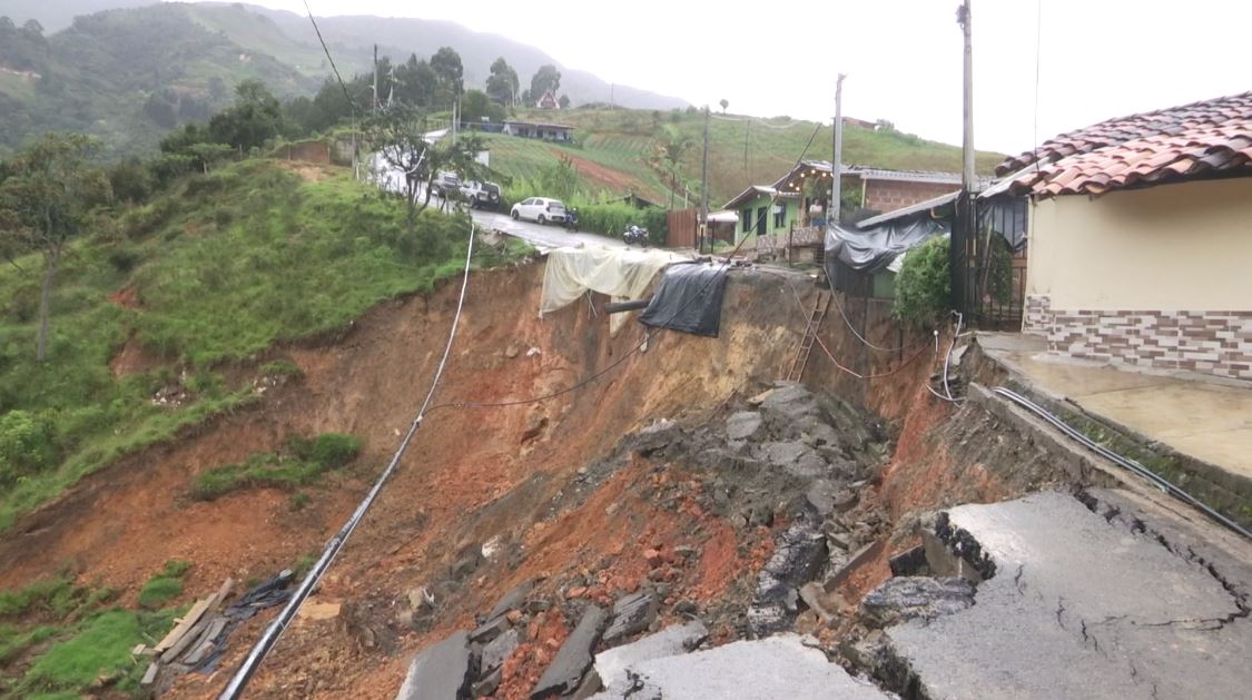
[[[1038,163],[1037,160],[1038,159]],[[1252,175],[1252,93],[1109,119],[1002,163],[1014,194],[1055,197]]]

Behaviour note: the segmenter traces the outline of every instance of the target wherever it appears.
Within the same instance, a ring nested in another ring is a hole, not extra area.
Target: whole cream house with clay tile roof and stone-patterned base
[[[1005,160],[1029,195],[1023,331],[1049,352],[1252,379],[1252,93]]]

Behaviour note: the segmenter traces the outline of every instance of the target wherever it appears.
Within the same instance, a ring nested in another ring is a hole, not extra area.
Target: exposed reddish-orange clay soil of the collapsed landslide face
[[[635,342],[634,328],[610,339],[606,317],[592,316],[586,304],[540,321],[541,279],[537,264],[475,274],[436,403],[568,387]],[[760,287],[770,287],[769,293]],[[321,601],[342,602],[341,615],[289,629],[253,680],[253,695],[391,696],[413,652],[473,625],[473,615],[513,585],[547,576],[552,586],[586,569],[595,576],[590,595],[607,601],[651,571],[644,557],[649,547],[704,548],[697,565],[671,566],[675,571],[665,574],[674,577],[675,596],[711,600],[729,580],[759,566],[767,552],[756,547],[756,537],[739,541],[726,523],[700,512],[691,488],[656,483],[666,472],[657,476],[647,462],[631,462],[572,510],[552,516],[548,506],[578,468],[622,435],[772,381],[793,352],[793,333],[779,326],[771,303],[776,287],[776,281],[746,278],[729,286],[726,304],[736,313],[724,319],[721,338],[661,336],[646,353],[583,391],[535,406],[429,413],[317,592]],[[278,351],[303,369],[302,381],[123,458],[20,518],[0,537],[0,589],[69,566],[83,582],[121,590],[121,602],[129,605],[165,561],[183,558],[193,566],[178,602],[188,602],[227,576],[265,577],[321,551],[391,457],[426,394],[456,293],[449,284],[429,296],[386,302],[342,338]],[[528,348],[538,353],[531,356]],[[343,476],[307,488],[310,501],[298,512],[290,508],[290,493],[275,490],[240,491],[213,502],[188,497],[204,470],[273,451],[289,433],[328,431],[362,437],[364,452]],[[676,505],[647,497],[649,488],[676,490]],[[502,556],[488,558],[458,584],[456,595],[437,602],[437,627],[427,634],[396,622],[397,601],[407,591],[447,580],[458,552],[488,540],[521,551],[521,564],[510,569]],[[741,545],[756,547],[752,556],[742,557]],[[600,567],[601,561],[607,565]],[[232,636],[217,675],[185,679],[173,695],[217,692],[264,621]],[[552,636],[555,625],[548,624]],[[533,664],[521,666],[527,674],[535,670]]]

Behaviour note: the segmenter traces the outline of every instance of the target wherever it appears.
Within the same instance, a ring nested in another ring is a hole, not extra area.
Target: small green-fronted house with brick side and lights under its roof
[[[804,160],[770,185],[752,185],[726,203],[739,213],[739,237],[771,234],[795,227],[825,225],[830,202],[830,163]],[[893,212],[960,189],[959,173],[888,170],[845,165],[843,192],[853,193],[861,214]],[[989,184],[980,180],[980,185]],[[845,195],[844,202],[848,202]],[[851,212],[849,212],[851,213]]]

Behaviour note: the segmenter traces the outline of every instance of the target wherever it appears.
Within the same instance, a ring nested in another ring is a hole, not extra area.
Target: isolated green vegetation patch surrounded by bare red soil
[[[282,453],[260,452],[245,462],[202,472],[195,477],[192,493],[202,501],[212,501],[240,488],[307,486],[326,472],[343,467],[358,453],[361,440],[351,435],[323,433],[314,440],[292,436]]]

